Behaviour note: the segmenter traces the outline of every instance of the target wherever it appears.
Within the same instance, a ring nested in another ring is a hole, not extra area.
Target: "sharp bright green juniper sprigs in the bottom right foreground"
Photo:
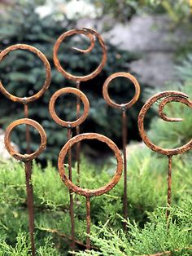
[[[172,255],[191,255],[191,201],[182,207],[172,207],[168,224],[165,210],[157,209],[149,214],[150,221],[141,230],[136,223],[127,222],[128,233],[114,231],[104,225],[92,234],[98,250],[79,252],[76,255],[149,255],[171,251]],[[178,250],[177,250],[178,249]]]

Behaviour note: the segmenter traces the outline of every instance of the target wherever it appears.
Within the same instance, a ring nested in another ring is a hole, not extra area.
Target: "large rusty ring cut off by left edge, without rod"
[[[34,100],[40,98],[41,95],[43,95],[44,92],[50,86],[50,73],[51,73],[50,63],[46,59],[46,56],[41,53],[41,51],[37,50],[37,48],[35,48],[33,46],[28,46],[26,44],[16,44],[16,45],[7,47],[5,50],[3,50],[0,53],[0,61],[2,61],[3,58],[8,53],[10,53],[11,51],[14,51],[14,50],[27,50],[27,51],[33,52],[35,55],[37,55],[41,59],[42,63],[44,64],[44,66],[46,68],[46,81],[44,82],[44,85],[42,86],[41,90],[39,90],[35,95],[30,96],[30,97],[17,97],[15,95],[11,95],[11,93],[9,93],[4,88],[4,86],[2,85],[2,82],[0,81],[0,90],[2,91],[3,95],[5,95],[8,99],[11,99],[12,101],[19,102],[22,104],[28,104],[29,102],[33,102]]]

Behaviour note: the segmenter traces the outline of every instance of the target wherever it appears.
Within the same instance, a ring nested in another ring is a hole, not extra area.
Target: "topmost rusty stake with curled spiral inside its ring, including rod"
[[[72,37],[74,35],[85,35],[85,37],[89,38],[89,40],[90,40],[90,46],[85,50],[76,48],[76,47],[72,47],[73,50],[79,51],[83,54],[87,54],[94,49],[96,38],[98,38],[98,42],[103,51],[102,61],[98,65],[98,68],[96,68],[92,73],[85,75],[85,76],[75,76],[75,75],[72,75],[71,73],[68,73],[67,71],[64,70],[64,68],[62,68],[62,66],[59,62],[58,51],[59,51],[60,44],[66,38]],[[60,37],[55,42],[53,59],[54,59],[55,67],[58,69],[58,71],[60,73],[62,73],[63,76],[66,77],[67,79],[76,82],[76,89],[80,90],[81,82],[85,82],[85,81],[89,81],[90,79],[93,79],[99,73],[101,73],[101,71],[103,70],[103,67],[107,60],[107,49],[106,49],[105,43],[103,42],[103,38],[94,29],[85,29],[85,28],[72,29],[72,30],[69,30],[69,31],[61,34]],[[78,119],[79,117],[80,117],[80,99],[79,99],[79,97],[77,97],[76,98],[76,119]],[[76,135],[79,135],[79,134],[80,134],[80,126],[76,126]],[[81,143],[76,143],[76,162],[77,162],[77,178],[78,178],[77,182],[78,183],[80,182],[80,180],[79,180],[80,179],[80,151],[81,151]]]

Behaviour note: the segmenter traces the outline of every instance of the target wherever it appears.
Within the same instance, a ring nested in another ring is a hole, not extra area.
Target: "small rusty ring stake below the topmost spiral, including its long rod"
[[[82,100],[84,104],[84,113],[81,117],[79,117],[76,121],[63,121],[60,119],[55,112],[55,101],[58,99],[60,95],[73,94],[76,95],[79,99]],[[57,90],[54,95],[52,95],[50,99],[50,116],[54,119],[54,121],[60,126],[68,128],[68,141],[72,137],[72,128],[76,126],[80,126],[83,121],[85,121],[86,117],[89,114],[89,100],[85,96],[81,90],[77,90],[76,88],[66,87],[60,90]],[[72,152],[71,149],[68,151],[68,179],[72,182]],[[72,189],[69,190],[69,198],[70,198],[70,218],[71,218],[71,227],[72,227],[72,249],[75,249],[75,219],[74,219],[74,202],[72,196]]]

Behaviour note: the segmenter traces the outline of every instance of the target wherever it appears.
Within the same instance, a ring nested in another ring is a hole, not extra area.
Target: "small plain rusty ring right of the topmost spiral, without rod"
[[[133,82],[133,85],[135,87],[135,94],[133,96],[133,99],[131,99],[128,103],[126,104],[116,104],[113,100],[110,99],[109,94],[108,94],[108,86],[110,82],[115,79],[116,77],[126,77],[128,78],[131,82]],[[137,99],[139,98],[140,95],[140,86],[139,83],[137,82],[137,79],[133,77],[130,73],[124,73],[124,72],[119,72],[119,73],[113,73],[110,77],[107,78],[106,82],[104,82],[103,85],[103,97],[107,101],[107,104],[111,105],[111,107],[114,108],[130,108],[137,102]]]

